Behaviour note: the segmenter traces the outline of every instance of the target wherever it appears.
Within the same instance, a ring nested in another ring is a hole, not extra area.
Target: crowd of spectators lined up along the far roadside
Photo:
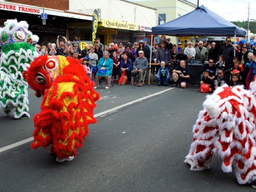
[[[250,42],[232,46],[231,39],[227,37],[225,43],[217,48],[215,42],[199,41],[194,44],[185,43],[183,49],[180,42],[177,45],[172,44],[171,39],[166,39],[164,35],[160,39],[160,43],[153,43],[151,49],[146,39],[134,42],[133,45],[131,43],[125,46],[123,43],[115,45],[111,42],[107,46],[102,45],[100,38],[97,38],[92,44],[85,44],[84,49],[81,50],[77,43],[71,44],[71,41],[64,36],[57,36],[56,43],[48,43],[47,46],[36,44],[36,49],[39,55],[62,55],[79,60],[86,68],[87,75],[95,81],[96,88],[97,81],[101,79],[99,76],[104,76],[102,74],[109,75],[109,78],[106,78],[107,87],[109,87],[110,81],[118,82],[124,72],[128,83],[132,83],[133,79],[133,84],[136,84],[138,80],[139,86],[142,86],[143,76],[148,68],[150,50],[152,50],[151,62],[158,63],[152,67],[152,76],[157,77],[159,86],[166,86],[171,75],[174,82],[172,86],[185,88],[190,77],[186,60],[192,59],[202,60],[202,63],[207,61],[201,73],[200,84],[209,84],[210,91],[223,83],[233,86],[243,84],[248,88],[247,81],[251,81],[256,73],[254,56],[256,46],[250,46]],[[179,59],[180,63],[173,68],[178,55],[179,58],[180,55],[186,55],[186,57],[184,60]],[[99,73],[99,69],[108,70],[104,71],[105,73]],[[138,79],[135,77],[136,74],[139,76]]]

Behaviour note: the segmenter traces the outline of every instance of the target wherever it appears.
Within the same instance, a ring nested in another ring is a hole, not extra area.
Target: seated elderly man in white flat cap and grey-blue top
[[[136,85],[137,83],[136,74],[139,73],[139,87],[142,86],[143,76],[147,68],[148,60],[144,57],[144,52],[139,51],[139,57],[137,57],[135,62],[133,63],[133,70],[131,72],[134,85]]]

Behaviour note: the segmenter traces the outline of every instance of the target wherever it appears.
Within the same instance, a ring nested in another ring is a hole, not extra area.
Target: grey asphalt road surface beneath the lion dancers
[[[97,89],[95,114],[167,88]],[[97,117],[70,162],[57,163],[48,148],[32,150],[30,143],[0,153],[0,191],[253,191],[239,185],[234,173],[223,173],[218,156],[207,171],[190,171],[183,163],[206,96],[195,89],[174,88]],[[29,90],[29,100],[33,117],[41,99]],[[31,137],[33,129],[32,118],[14,120],[1,111],[0,148]]]

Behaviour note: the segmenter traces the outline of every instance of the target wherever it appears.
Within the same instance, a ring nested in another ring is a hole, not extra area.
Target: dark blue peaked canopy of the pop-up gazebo
[[[186,15],[153,27],[152,34],[245,37],[246,31],[201,5]]]

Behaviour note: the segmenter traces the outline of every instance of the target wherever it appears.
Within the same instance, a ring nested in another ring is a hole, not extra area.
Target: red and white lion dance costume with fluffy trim
[[[255,77],[250,90],[226,85],[207,96],[184,161],[191,165],[190,170],[209,169],[212,153],[217,152],[223,159],[223,172],[232,172],[232,165],[235,167],[238,183],[256,180],[255,96]]]

